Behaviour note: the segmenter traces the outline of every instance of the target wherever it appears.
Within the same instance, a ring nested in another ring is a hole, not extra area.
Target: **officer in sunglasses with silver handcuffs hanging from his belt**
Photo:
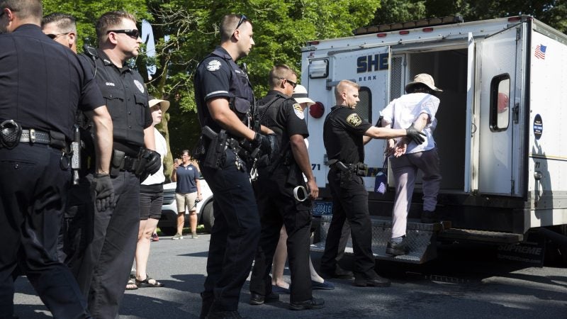
[[[313,298],[309,269],[311,203],[319,189],[313,177],[304,138],[309,136],[303,108],[291,99],[297,85],[297,75],[287,65],[276,65],[269,73],[271,90],[259,101],[261,123],[274,130],[278,138],[279,156],[273,163],[259,168],[254,182],[262,233],[252,277],[250,278],[251,305],[278,299],[271,291],[271,261],[278,245],[281,225],[288,233],[287,249],[291,271],[292,310],[323,308],[325,301]],[[303,179],[307,177],[307,184]],[[299,195],[294,197],[293,190]],[[301,191],[300,191],[301,189]],[[306,191],[309,191],[307,196]],[[297,198],[296,198],[297,197]],[[307,198],[309,197],[309,198]]]

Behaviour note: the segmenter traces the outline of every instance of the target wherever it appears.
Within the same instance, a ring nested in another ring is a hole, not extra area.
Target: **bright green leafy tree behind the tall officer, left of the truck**
[[[200,132],[193,72],[220,43],[218,24],[225,14],[244,13],[254,24],[256,45],[239,62],[247,63],[255,94],[262,96],[274,64],[285,63],[299,72],[306,41],[351,35],[352,29],[371,21],[378,5],[378,0],[148,0],[158,52],[150,85],[172,102],[167,118],[172,152],[191,148]]]

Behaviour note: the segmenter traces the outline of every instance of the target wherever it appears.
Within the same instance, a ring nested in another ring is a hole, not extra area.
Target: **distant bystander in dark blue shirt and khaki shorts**
[[[201,201],[201,185],[199,184],[199,171],[191,164],[189,150],[181,152],[181,164],[174,162],[172,181],[177,182],[175,188],[175,201],[177,203],[177,233],[172,240],[183,239],[183,225],[185,223],[185,210],[189,209],[189,225],[191,238],[197,236],[197,202]]]

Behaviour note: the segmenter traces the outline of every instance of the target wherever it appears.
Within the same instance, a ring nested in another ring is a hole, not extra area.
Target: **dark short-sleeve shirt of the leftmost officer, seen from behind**
[[[92,72],[69,48],[25,24],[0,34],[0,121],[55,130],[72,140],[77,107],[104,105]]]

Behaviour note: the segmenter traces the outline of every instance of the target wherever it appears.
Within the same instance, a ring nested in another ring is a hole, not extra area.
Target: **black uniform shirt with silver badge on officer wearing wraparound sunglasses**
[[[128,66],[114,65],[102,50],[96,52],[99,55],[95,60],[96,83],[112,117],[114,148],[137,155],[137,148],[144,145],[144,129],[153,121],[144,79]],[[94,72],[91,57],[81,57]]]

